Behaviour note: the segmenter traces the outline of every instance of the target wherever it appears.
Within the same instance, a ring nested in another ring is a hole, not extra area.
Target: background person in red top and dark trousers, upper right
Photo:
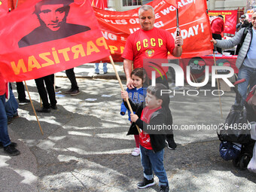
[[[212,20],[212,23],[211,23],[212,38],[221,40],[221,32],[224,31],[224,26],[225,26],[223,19],[224,18],[222,15],[218,15],[216,19]],[[218,53],[222,53],[221,48],[215,47],[215,50],[216,48]]]

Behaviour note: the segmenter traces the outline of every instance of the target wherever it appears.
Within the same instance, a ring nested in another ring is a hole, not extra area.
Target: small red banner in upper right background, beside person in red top
[[[214,20],[218,15],[222,15],[224,17],[224,33],[235,34],[236,33],[236,17],[237,10],[233,11],[209,11],[208,12],[210,20]]]

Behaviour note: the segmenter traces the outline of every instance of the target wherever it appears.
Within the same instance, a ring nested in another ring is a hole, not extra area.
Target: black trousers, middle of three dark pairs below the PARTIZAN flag
[[[44,108],[50,108],[50,105],[55,106],[57,103],[52,80],[53,80],[53,75],[47,75],[43,78],[35,79],[35,84],[36,84],[36,87],[38,88],[38,93],[41,97]],[[44,83],[45,83],[47,92],[45,90]],[[47,93],[49,95],[50,104],[48,102]]]

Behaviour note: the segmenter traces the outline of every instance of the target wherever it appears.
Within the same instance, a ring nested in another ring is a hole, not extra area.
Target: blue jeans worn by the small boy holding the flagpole
[[[154,153],[153,150],[143,148],[142,145],[139,146],[141,150],[141,160],[143,166],[144,177],[148,180],[153,178],[154,173],[159,178],[160,186],[169,186],[166,170],[163,167],[163,153],[164,150]]]

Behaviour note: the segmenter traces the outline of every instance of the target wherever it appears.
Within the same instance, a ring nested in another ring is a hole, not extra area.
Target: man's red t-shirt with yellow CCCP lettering
[[[154,27],[149,31],[139,29],[131,34],[125,44],[122,57],[133,61],[133,69],[143,67],[143,59],[167,59],[173,52],[174,38],[170,32]]]

